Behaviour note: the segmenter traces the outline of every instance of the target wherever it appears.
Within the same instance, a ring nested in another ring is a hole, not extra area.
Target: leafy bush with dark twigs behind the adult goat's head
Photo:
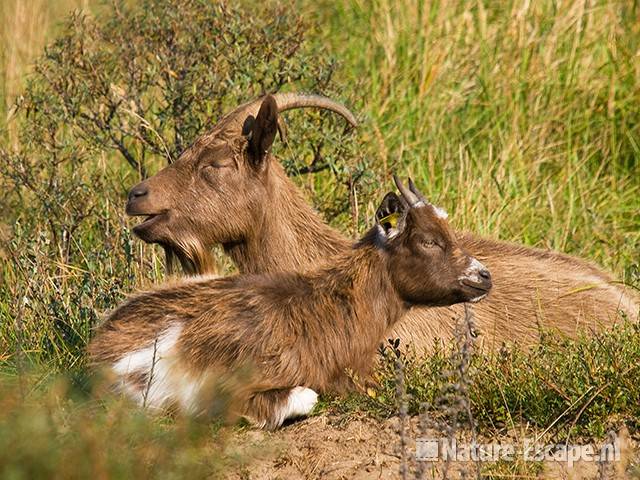
[[[59,368],[76,363],[99,314],[140,277],[159,276],[122,211],[150,169],[266,92],[332,93],[334,62],[305,43],[309,28],[282,6],[202,0],[113,1],[98,19],[70,17],[17,104],[15,141],[0,148],[0,222],[13,226],[4,235],[2,358],[20,345]],[[316,126],[311,144],[285,148],[295,171],[340,124],[326,114],[293,118],[294,128]],[[323,148],[325,166],[339,163],[343,143]],[[349,164],[324,175],[352,178]],[[340,196],[331,202],[336,214],[349,210]]]

